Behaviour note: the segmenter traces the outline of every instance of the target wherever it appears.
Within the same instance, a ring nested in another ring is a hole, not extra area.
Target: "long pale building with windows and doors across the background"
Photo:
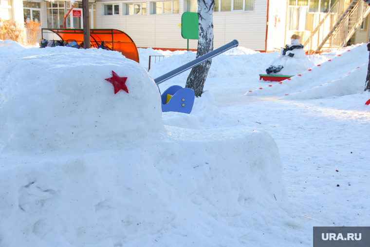
[[[186,49],[181,36],[181,16],[196,12],[196,0],[89,0],[91,28],[118,29],[126,32],[137,47]],[[214,47],[233,39],[240,46],[256,51],[274,51],[299,34],[303,43],[335,3],[352,0],[215,0],[213,15]],[[0,17],[22,22],[33,19],[43,28],[82,28],[82,2],[70,0],[0,0]],[[369,17],[349,39],[367,42]],[[189,40],[189,49],[197,40]]]

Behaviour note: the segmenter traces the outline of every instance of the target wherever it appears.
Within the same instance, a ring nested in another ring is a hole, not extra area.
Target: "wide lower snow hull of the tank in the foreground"
[[[168,133],[118,150],[8,153],[1,246],[268,246],[262,233],[282,230],[272,219],[289,217],[272,137],[244,127]]]

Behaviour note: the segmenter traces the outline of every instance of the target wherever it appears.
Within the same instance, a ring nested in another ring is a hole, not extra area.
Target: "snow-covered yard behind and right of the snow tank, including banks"
[[[277,53],[258,54],[258,58],[254,54],[234,56],[239,62],[231,68],[226,66],[226,56],[220,55],[213,59],[205,98],[196,99],[192,112],[202,128],[254,126],[273,136],[284,164],[291,212],[299,225],[295,229],[307,239],[312,239],[314,226],[370,224],[369,138],[363,134],[370,123],[370,107],[365,105],[370,93],[363,92],[369,53],[363,44],[334,54],[340,56],[315,57],[311,71],[281,84],[259,80],[264,65]],[[185,56],[177,58],[179,65],[190,60]],[[171,70],[166,66],[176,67],[175,57],[170,58],[172,61],[166,58],[152,65],[150,74],[160,76]],[[222,75],[225,67],[234,75]],[[221,75],[217,76],[219,69]],[[161,84],[161,90],[176,83],[184,86],[188,73],[184,74],[178,81],[174,77]],[[300,244],[287,241],[282,246]],[[306,245],[312,246],[312,242]]]

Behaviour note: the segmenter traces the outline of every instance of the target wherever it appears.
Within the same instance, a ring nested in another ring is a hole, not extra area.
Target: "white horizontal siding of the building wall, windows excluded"
[[[101,4],[120,3],[119,16],[101,16]],[[96,27],[114,28],[126,32],[137,47],[186,49],[187,40],[182,38],[181,15],[186,1],[180,0],[180,14],[122,15],[122,3],[135,1],[96,1]],[[142,2],[142,1],[137,1]],[[237,39],[240,46],[253,50],[265,50],[267,0],[255,0],[252,12],[218,12],[213,15],[214,47]],[[189,40],[189,49],[197,49],[198,40]]]

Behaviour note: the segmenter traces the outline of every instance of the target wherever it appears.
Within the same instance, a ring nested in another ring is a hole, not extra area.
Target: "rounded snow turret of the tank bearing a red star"
[[[128,77],[129,94],[114,94],[105,80],[112,71]],[[156,84],[142,66],[122,56],[19,58],[0,72],[0,100],[0,141],[12,150],[91,147],[164,131]]]

